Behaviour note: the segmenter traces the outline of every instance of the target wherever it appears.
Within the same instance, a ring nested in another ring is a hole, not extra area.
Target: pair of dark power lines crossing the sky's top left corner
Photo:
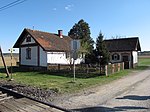
[[[25,1],[27,1],[27,0],[23,0],[23,1],[22,0],[16,0],[14,2],[11,2],[11,3],[9,3],[9,4],[5,5],[5,6],[0,7],[0,11],[6,10],[8,8],[11,8],[11,7],[15,6],[15,5],[21,4],[21,3],[25,2]]]

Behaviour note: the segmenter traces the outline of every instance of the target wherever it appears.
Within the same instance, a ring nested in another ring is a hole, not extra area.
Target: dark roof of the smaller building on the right
[[[104,40],[110,52],[141,51],[138,37]]]

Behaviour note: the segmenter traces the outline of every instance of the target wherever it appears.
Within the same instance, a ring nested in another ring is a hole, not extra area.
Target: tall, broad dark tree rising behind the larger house
[[[90,27],[83,19],[76,23],[68,32],[68,36],[72,39],[80,39],[81,48],[79,53],[84,53],[85,55],[91,54],[93,51],[94,41],[90,34]]]

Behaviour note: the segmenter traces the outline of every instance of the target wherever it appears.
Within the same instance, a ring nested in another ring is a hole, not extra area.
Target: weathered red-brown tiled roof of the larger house
[[[71,49],[71,38],[69,36],[64,36],[60,38],[58,34],[24,29],[14,48],[19,48],[22,39],[25,35],[30,34],[32,38],[45,50],[45,51],[70,51]]]

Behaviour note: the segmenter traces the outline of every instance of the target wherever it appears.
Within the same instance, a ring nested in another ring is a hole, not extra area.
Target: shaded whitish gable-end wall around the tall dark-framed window
[[[37,66],[37,46],[29,47],[31,48],[31,59],[26,59],[26,49],[28,47],[21,48],[21,65],[31,65]]]

